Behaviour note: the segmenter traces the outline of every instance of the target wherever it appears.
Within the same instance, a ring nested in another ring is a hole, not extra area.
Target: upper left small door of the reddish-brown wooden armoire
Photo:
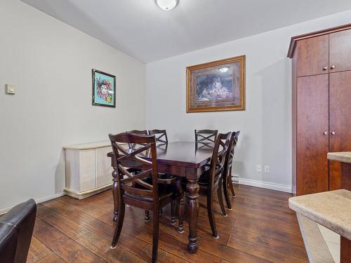
[[[329,35],[300,40],[296,48],[298,76],[329,72]]]

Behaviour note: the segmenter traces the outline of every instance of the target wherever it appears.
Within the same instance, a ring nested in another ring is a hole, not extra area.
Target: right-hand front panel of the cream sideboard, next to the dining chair
[[[102,187],[112,183],[111,160],[107,153],[112,151],[111,147],[95,149],[96,154],[96,187]]]

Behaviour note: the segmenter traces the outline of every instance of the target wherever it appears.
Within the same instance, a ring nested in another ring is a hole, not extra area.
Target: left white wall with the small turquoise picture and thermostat
[[[145,64],[18,0],[0,25],[1,211],[62,192],[63,145],[145,128]],[[116,109],[91,105],[93,68],[117,76]]]

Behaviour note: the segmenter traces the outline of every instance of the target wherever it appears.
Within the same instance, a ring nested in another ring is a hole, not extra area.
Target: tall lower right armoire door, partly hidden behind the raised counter
[[[329,74],[329,151],[351,151],[351,71]],[[341,187],[340,164],[329,161],[329,190]]]

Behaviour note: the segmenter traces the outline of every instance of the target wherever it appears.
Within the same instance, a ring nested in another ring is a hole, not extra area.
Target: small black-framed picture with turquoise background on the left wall
[[[116,76],[93,69],[93,105],[116,107]]]

